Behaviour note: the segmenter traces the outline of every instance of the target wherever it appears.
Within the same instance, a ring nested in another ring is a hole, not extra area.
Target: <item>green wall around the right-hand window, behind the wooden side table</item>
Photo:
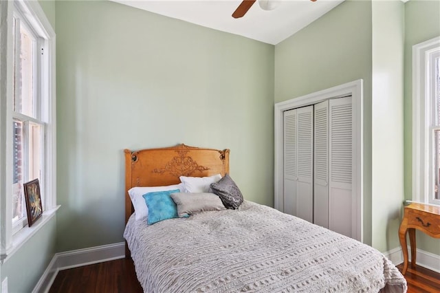
[[[405,198],[412,197],[412,46],[440,36],[440,1],[411,0],[405,3]],[[417,247],[440,254],[438,239],[417,231]]]

